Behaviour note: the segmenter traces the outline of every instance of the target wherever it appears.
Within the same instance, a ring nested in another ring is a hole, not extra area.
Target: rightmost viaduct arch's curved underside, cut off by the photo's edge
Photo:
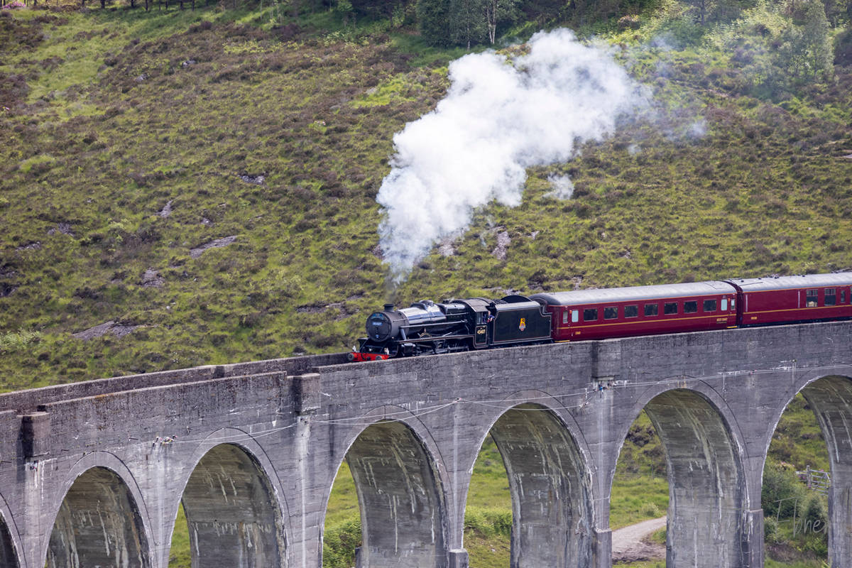
[[[832,474],[828,495],[828,560],[832,568],[841,568],[852,558],[852,531],[849,531],[852,526],[852,377],[809,377],[798,392],[814,410],[828,447]],[[795,395],[789,397],[775,417],[763,454],[764,463],[772,432]]]

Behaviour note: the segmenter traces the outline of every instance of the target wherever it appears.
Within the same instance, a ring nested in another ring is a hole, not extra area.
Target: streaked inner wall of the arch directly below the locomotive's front
[[[408,414],[392,409],[392,416]],[[359,566],[446,568],[446,502],[440,471],[417,428],[385,420],[386,409],[354,438],[346,461],[355,483],[364,539]]]

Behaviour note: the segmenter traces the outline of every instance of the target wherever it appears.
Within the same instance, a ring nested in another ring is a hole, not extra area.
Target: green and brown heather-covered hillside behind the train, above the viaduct
[[[750,20],[672,49],[664,11],[609,36],[648,112],[391,294],[375,194],[460,52],[268,10],[3,10],[0,389],[343,350],[389,295],[852,267],[849,68],[773,98],[726,48]]]

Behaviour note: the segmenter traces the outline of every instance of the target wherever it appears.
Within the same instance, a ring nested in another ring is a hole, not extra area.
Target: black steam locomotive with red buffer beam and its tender
[[[350,361],[374,361],[391,357],[452,353],[550,342],[550,313],[542,304],[522,295],[501,300],[468,298],[417,301],[367,318],[367,336],[348,354]]]

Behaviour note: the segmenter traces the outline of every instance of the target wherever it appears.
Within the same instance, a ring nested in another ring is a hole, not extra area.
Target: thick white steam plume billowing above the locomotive
[[[441,238],[468,227],[475,208],[521,204],[528,167],[567,161],[644,101],[607,52],[573,32],[538,32],[528,48],[514,60],[489,52],[453,61],[446,98],[394,135],[377,201],[396,283]]]

